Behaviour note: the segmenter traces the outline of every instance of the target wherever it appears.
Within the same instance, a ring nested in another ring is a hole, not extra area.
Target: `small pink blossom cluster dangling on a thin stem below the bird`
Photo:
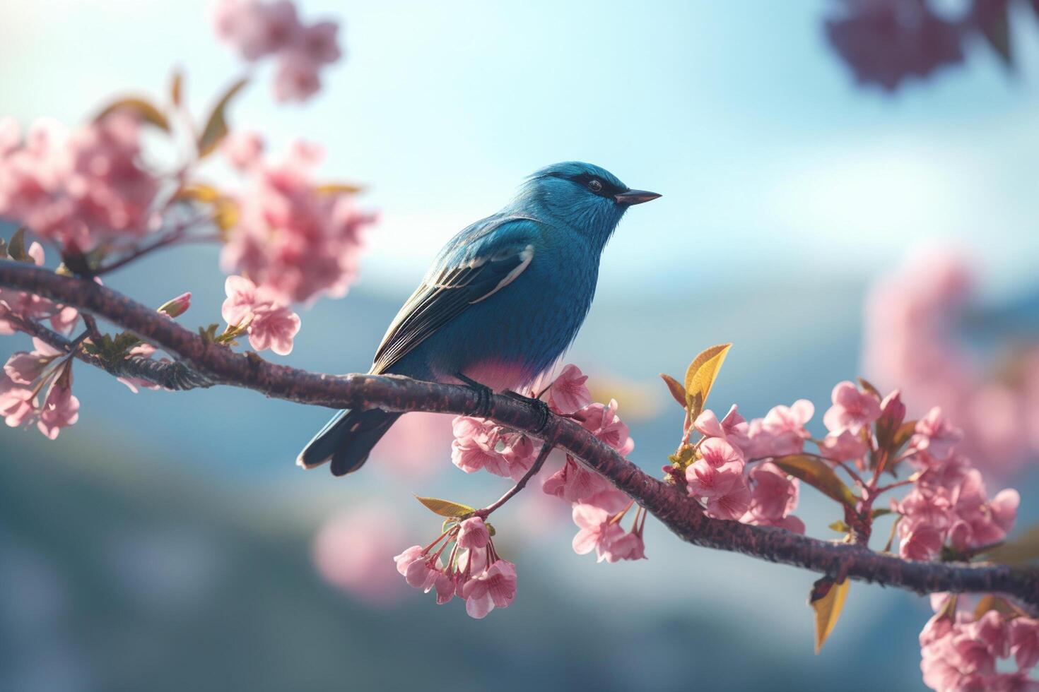
[[[426,593],[436,589],[438,605],[456,596],[463,599],[465,612],[472,617],[482,618],[495,608],[508,608],[516,594],[516,570],[499,557],[490,526],[479,516],[446,524],[430,545],[411,546],[394,557],[397,572],[408,585]]]

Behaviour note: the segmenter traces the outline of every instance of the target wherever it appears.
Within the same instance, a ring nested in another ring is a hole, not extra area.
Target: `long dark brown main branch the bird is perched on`
[[[236,354],[208,343],[166,316],[91,281],[66,278],[31,265],[0,261],[0,286],[71,305],[136,333],[164,349],[214,384],[246,387],[276,398],[330,408],[380,408],[486,416],[561,447],[610,480],[684,541],[760,559],[918,593],[985,591],[1016,597],[1039,609],[1039,572],[988,563],[914,562],[865,547],[837,544],[778,528],[711,519],[675,487],[644,473],[572,420],[494,395],[489,406],[468,387],[396,376],[308,372],[268,363],[254,353]],[[90,361],[87,361],[90,362]],[[97,364],[97,363],[91,363]]]

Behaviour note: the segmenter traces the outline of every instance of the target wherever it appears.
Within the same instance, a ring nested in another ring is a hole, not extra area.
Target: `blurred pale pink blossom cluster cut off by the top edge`
[[[277,101],[310,99],[321,88],[321,67],[342,56],[336,38],[339,26],[302,23],[289,0],[217,0],[213,27],[221,40],[249,62],[274,57]]]

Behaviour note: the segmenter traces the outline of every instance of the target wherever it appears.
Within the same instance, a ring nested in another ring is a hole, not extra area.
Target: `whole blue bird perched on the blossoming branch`
[[[632,204],[660,197],[565,162],[531,175],[502,211],[441,250],[375,353],[372,375],[514,391],[550,369],[591,307],[603,248]],[[341,411],[297,464],[356,471],[400,413]]]

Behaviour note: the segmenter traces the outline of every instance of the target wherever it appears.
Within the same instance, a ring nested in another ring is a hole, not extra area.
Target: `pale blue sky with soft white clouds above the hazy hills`
[[[345,22],[347,58],[299,107],[269,65],[233,111],[275,144],[324,143],[324,172],[370,186],[382,223],[369,287],[414,285],[439,245],[501,206],[530,171],[583,159],[662,192],[604,258],[604,296],[673,290],[695,272],[867,278],[904,248],[952,240],[996,289],[1039,250],[1039,40],[1022,8],[1021,68],[968,47],[964,68],[895,98],[855,88],[826,46],[827,2],[301,2]],[[161,92],[196,110],[239,65],[193,0],[14,0],[0,9],[0,112],[75,121],[101,94]]]

